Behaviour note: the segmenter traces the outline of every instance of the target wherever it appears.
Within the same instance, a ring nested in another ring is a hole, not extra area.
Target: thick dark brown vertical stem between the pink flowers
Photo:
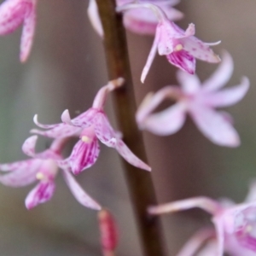
[[[125,143],[138,157],[146,160],[142,134],[135,122],[136,103],[131,80],[131,70],[125,29],[122,17],[115,13],[114,0],[96,0],[104,30],[109,80],[123,77],[125,86],[113,92],[115,113]],[[156,203],[154,186],[149,172],[137,169],[123,160],[131,201],[137,218],[143,255],[163,256],[162,237],[158,218],[149,217],[147,207]]]

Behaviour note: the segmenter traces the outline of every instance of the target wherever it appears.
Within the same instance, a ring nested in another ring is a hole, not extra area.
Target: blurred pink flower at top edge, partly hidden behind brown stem
[[[116,0],[117,6],[133,3],[131,0]],[[141,0],[141,3],[154,3],[166,13],[169,20],[180,20],[183,14],[173,5],[179,3],[179,0]],[[88,16],[96,32],[103,37],[102,22],[100,20],[96,0],[90,0],[88,6]],[[125,28],[138,34],[154,35],[158,20],[150,9],[131,9],[124,15]]]

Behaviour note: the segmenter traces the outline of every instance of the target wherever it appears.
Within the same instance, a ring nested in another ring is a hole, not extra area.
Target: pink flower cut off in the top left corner
[[[0,5],[0,35],[6,35],[20,26],[20,61],[25,62],[32,48],[36,26],[37,0],[6,0]]]

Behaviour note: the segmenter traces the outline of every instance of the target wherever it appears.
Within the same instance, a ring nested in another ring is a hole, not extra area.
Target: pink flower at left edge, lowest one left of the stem
[[[61,149],[65,139],[55,139],[49,149],[36,154],[37,139],[37,136],[29,137],[22,146],[23,152],[31,156],[32,159],[0,165],[1,171],[8,172],[0,176],[0,183],[10,187],[23,187],[38,181],[38,185],[26,196],[26,208],[32,209],[51,199],[55,192],[55,176],[61,166],[67,186],[77,201],[84,207],[100,210],[102,207],[80,187],[71,175],[69,168],[63,168],[63,165],[60,164]]]

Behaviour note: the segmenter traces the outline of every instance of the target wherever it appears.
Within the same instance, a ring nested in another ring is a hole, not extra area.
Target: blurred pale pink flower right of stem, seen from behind
[[[186,113],[189,113],[195,125],[212,143],[237,147],[240,139],[231,125],[230,116],[214,110],[236,104],[247,93],[247,78],[242,78],[241,84],[235,87],[218,91],[230,79],[232,71],[233,61],[228,53],[224,54],[217,71],[202,85],[196,75],[178,71],[181,88],[168,85],[154,95],[148,94],[137,110],[138,125],[156,135],[171,135],[181,129]],[[152,113],[166,98],[177,103],[160,113]]]

